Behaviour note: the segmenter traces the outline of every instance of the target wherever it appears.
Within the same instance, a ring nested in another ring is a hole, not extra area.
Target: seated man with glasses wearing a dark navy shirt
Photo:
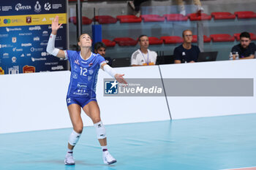
[[[183,44],[174,49],[174,63],[195,63],[200,53],[196,45],[192,45],[192,31],[185,30],[182,33]]]

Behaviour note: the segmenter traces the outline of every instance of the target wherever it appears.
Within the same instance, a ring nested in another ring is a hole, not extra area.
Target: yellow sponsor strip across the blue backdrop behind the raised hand
[[[66,13],[41,15],[12,15],[0,16],[0,27],[50,25],[56,15],[59,16],[59,23],[67,23]]]

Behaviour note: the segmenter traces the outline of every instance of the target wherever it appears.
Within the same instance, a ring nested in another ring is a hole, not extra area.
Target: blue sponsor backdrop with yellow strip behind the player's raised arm
[[[0,74],[67,70],[67,61],[46,52],[56,15],[63,23],[55,46],[67,49],[67,1],[0,1]]]

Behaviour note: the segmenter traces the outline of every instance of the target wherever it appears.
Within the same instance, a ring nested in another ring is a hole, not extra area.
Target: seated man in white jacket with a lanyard
[[[131,65],[132,66],[148,66],[154,65],[157,61],[157,53],[148,50],[148,36],[141,35],[138,38],[140,49],[132,53]]]

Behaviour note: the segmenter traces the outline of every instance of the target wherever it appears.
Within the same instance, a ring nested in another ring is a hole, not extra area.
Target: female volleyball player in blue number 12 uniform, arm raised
[[[106,131],[100,119],[95,90],[99,68],[108,72],[118,82],[127,84],[123,78],[124,74],[116,74],[115,70],[108,66],[101,55],[91,53],[91,37],[89,34],[80,35],[78,42],[80,51],[59,50],[55,48],[54,42],[60,27],[59,17],[56,16],[51,25],[52,32],[50,34],[47,52],[56,57],[68,59],[71,66],[71,76],[67,92],[67,108],[73,125],[73,131],[69,136],[67,155],[64,163],[66,165],[75,164],[72,154],[73,148],[78,143],[78,139],[83,131],[83,121],[80,116],[81,107],[94,123],[97,138],[103,151],[103,162],[107,164],[115,163],[116,159],[108,152]]]

